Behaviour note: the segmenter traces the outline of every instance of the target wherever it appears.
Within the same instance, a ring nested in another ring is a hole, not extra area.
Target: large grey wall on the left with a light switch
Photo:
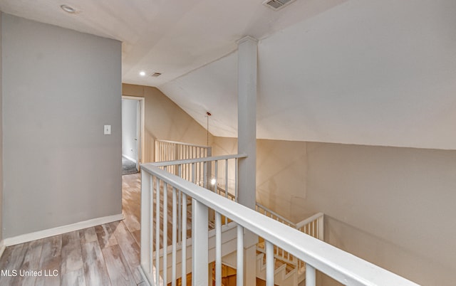
[[[1,36],[4,237],[121,213],[121,43],[6,14]]]

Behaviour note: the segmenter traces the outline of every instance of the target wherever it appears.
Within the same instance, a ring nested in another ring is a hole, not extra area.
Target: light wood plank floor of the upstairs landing
[[[6,248],[0,259],[0,285],[145,285],[138,270],[140,174],[125,175],[122,181],[124,221]],[[24,270],[42,272],[21,276]]]

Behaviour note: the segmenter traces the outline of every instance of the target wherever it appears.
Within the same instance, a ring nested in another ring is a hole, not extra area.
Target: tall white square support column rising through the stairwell
[[[237,152],[247,158],[239,159],[237,201],[253,210],[257,203],[257,46],[257,39],[249,36],[238,41]],[[244,233],[244,261],[255,261],[257,242],[257,235]],[[256,263],[245,263],[244,273],[244,285],[255,285]]]

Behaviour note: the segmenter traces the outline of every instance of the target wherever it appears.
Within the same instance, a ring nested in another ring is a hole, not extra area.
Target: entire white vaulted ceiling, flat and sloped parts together
[[[237,137],[236,41],[249,35],[257,137],[456,149],[456,1],[261,2],[0,0],[0,10],[122,41],[123,82],[156,86],[204,127],[212,112],[216,136]]]

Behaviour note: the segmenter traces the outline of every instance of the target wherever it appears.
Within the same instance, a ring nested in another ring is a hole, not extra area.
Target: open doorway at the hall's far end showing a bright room
[[[122,174],[135,174],[144,161],[144,98],[122,97]]]

